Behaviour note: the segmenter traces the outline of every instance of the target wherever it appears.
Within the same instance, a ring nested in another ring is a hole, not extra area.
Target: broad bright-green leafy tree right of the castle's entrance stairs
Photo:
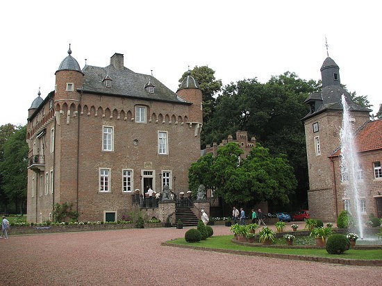
[[[289,203],[297,180],[286,156],[272,156],[268,149],[256,146],[239,164],[242,153],[238,144],[231,142],[217,149],[216,157],[208,154],[194,162],[189,171],[190,189],[204,184],[231,204]]]

